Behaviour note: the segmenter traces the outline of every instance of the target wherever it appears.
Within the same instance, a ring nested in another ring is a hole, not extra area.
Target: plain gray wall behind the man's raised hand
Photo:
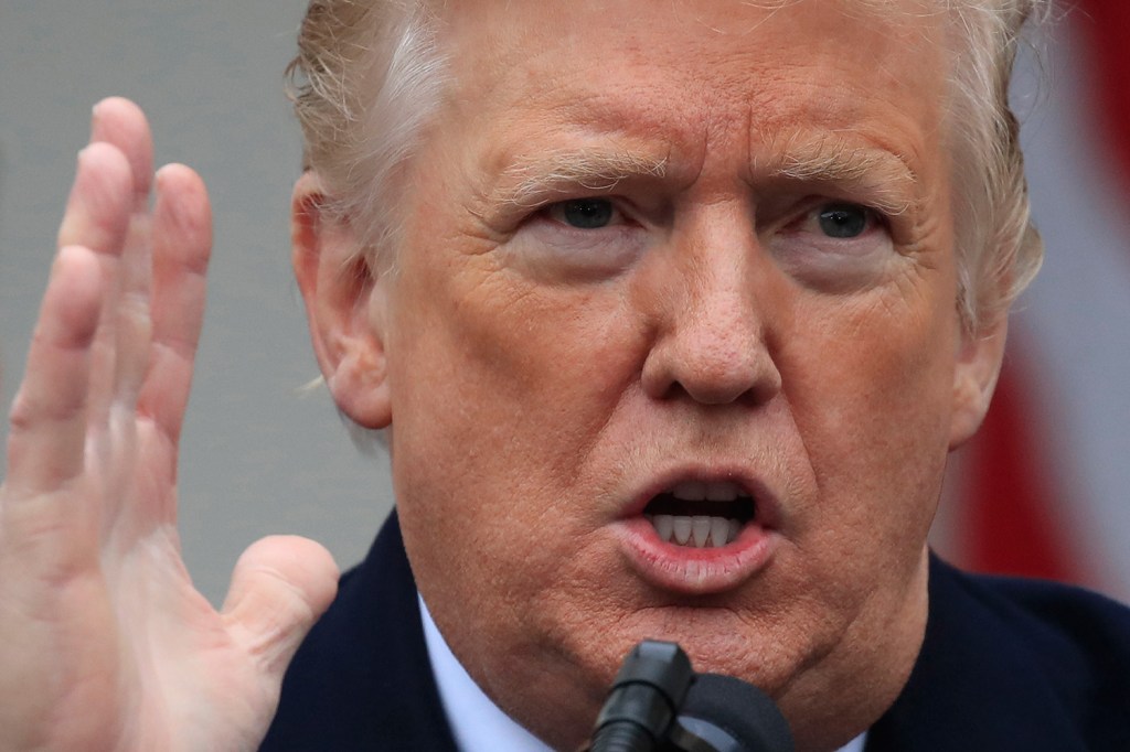
[[[181,530],[189,569],[214,602],[251,541],[308,535],[345,566],[364,556],[391,504],[385,458],[354,448],[324,390],[298,392],[318,369],[289,269],[299,141],[282,69],[304,9],[304,0],[0,0],[5,408],[90,106],[107,95],[138,102],[158,164],[192,165],[211,191],[216,245],[184,429]]]

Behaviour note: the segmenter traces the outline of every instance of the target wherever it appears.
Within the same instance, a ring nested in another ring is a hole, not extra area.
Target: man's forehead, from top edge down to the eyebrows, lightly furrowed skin
[[[912,159],[902,152],[932,140],[945,107],[944,19],[924,10],[920,0],[464,0],[445,32],[458,111],[447,122],[477,130],[501,163],[598,132],[690,161],[719,140],[746,140],[756,161],[806,138]]]

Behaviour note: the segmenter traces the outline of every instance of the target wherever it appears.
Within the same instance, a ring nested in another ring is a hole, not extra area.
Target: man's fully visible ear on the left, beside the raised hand
[[[338,408],[359,426],[385,428],[384,289],[349,222],[324,204],[321,180],[306,172],[290,200],[290,243],[314,355]]]

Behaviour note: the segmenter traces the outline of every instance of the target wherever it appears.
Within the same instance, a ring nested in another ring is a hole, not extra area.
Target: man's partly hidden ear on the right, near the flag
[[[956,449],[981,427],[1005,358],[1008,316],[972,332],[962,326],[954,369],[954,404],[949,418],[949,448]]]

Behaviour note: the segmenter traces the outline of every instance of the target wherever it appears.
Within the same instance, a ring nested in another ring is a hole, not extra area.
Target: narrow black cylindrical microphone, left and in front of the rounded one
[[[632,649],[600,709],[591,752],[653,752],[667,737],[694,679],[675,642],[644,640]]]

